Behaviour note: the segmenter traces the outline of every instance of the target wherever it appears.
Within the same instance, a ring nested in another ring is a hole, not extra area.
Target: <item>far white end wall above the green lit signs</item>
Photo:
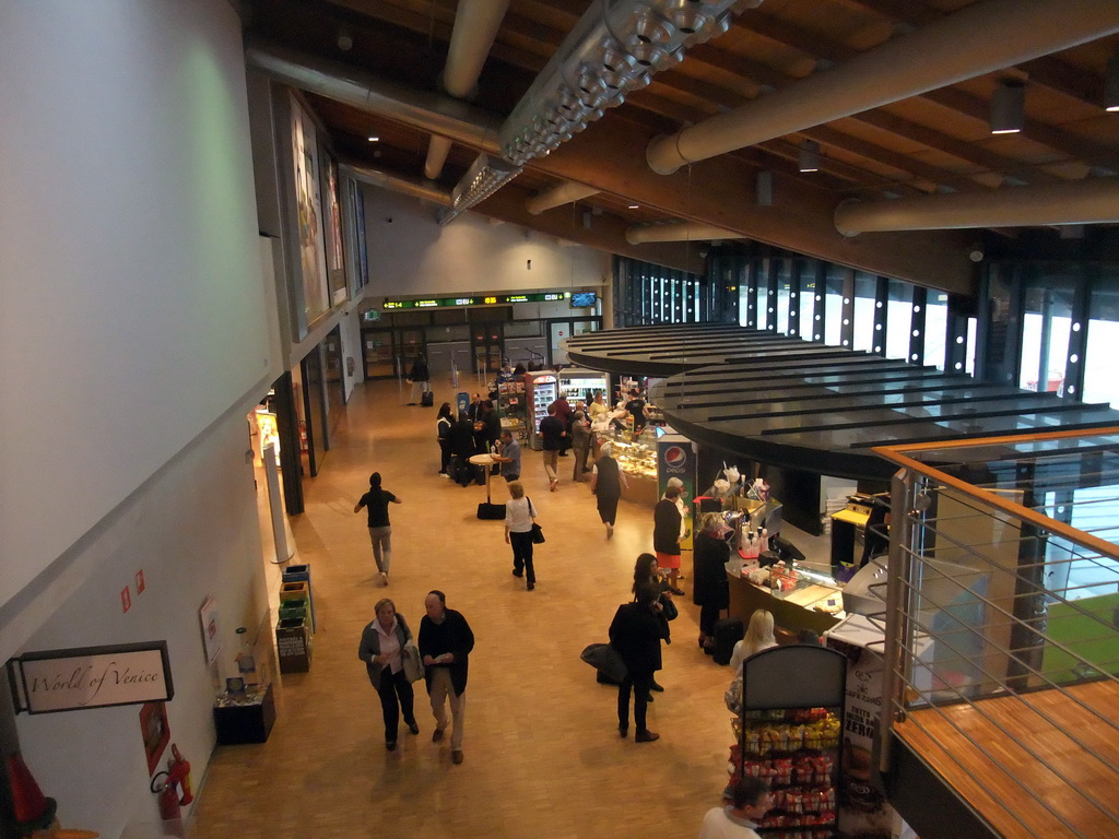
[[[610,255],[603,251],[561,245],[554,236],[490,224],[472,213],[440,227],[431,204],[368,185],[363,189],[366,299],[579,289],[602,285],[610,275]]]

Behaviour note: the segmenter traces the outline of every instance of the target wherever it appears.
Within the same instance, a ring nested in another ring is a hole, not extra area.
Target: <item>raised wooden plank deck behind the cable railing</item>
[[[1099,681],[923,708],[894,730],[1007,839],[1103,839],[1119,837],[1117,710],[1119,684]]]

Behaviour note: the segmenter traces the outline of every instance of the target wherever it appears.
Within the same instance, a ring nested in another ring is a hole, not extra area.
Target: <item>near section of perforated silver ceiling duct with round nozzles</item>
[[[548,154],[761,2],[595,0],[501,126],[502,157],[524,166]]]

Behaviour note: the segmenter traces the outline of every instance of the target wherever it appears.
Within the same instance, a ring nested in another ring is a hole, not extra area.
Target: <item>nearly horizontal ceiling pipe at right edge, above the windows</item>
[[[1101,223],[1119,223],[1119,178],[1006,187],[981,195],[951,192],[869,204],[850,201],[839,205],[835,213],[836,229],[844,236]]]

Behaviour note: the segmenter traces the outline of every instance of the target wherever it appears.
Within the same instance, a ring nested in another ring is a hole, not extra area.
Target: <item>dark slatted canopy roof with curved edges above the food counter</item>
[[[650,398],[692,440],[839,478],[888,478],[878,445],[1119,425],[1108,405],[726,324],[608,330],[564,348],[583,367],[667,377]]]

